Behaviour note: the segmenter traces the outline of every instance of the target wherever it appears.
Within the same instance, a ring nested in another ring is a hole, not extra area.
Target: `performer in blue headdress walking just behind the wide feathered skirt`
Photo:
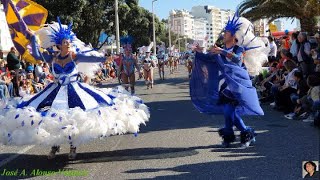
[[[124,55],[121,56],[121,64],[120,64],[120,72],[121,72],[121,79],[124,83],[125,89],[128,91],[129,87],[131,89],[131,94],[135,93],[135,83],[136,83],[136,75],[135,70],[137,69],[138,72],[139,66],[137,59],[135,56],[132,55],[132,37],[126,36],[121,38],[121,44],[124,49]]]

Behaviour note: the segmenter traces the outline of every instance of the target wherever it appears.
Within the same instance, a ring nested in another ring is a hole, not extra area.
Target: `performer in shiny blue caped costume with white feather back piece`
[[[224,29],[223,48],[215,45],[207,54],[199,46],[195,49],[190,96],[201,113],[224,115],[225,127],[219,135],[225,147],[235,141],[233,126],[241,131],[243,147],[254,142],[254,129],[240,116],[264,114],[249,73],[259,73],[268,50],[252,29],[252,24],[236,13]]]

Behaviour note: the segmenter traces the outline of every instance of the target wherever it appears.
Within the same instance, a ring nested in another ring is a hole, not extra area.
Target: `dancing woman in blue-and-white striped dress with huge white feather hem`
[[[78,81],[77,63],[90,69],[89,65],[104,62],[105,58],[74,53],[71,43],[79,40],[70,25],[54,23],[35,34],[39,35],[41,47],[56,45],[60,49],[56,56],[44,57],[51,64],[55,82],[35,96],[8,102],[1,108],[0,143],[51,146],[49,159],[55,157],[60,145],[70,144],[69,158],[75,159],[80,144],[94,138],[137,133],[139,125],[148,121],[147,106],[123,88],[96,89]],[[32,40],[33,55],[39,57],[35,36]]]

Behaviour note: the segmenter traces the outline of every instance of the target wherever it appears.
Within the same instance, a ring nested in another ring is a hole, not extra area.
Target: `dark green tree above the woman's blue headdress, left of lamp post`
[[[109,0],[110,1],[110,0]],[[104,0],[36,0],[47,8],[48,22],[57,21],[59,16],[63,24],[73,23],[73,31],[86,43],[97,43],[100,31],[108,24],[105,9],[108,1]]]

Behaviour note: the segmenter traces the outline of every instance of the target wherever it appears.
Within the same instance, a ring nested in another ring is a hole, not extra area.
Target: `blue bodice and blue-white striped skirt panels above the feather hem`
[[[39,111],[46,107],[53,109],[80,107],[83,110],[91,110],[100,105],[111,106],[111,97],[88,84],[78,81],[79,72],[71,54],[68,59],[70,59],[70,62],[61,67],[56,63],[56,61],[59,61],[56,58],[52,62],[52,74],[55,77],[55,82],[49,84],[43,91],[29,101],[21,103],[18,107],[32,106]]]

